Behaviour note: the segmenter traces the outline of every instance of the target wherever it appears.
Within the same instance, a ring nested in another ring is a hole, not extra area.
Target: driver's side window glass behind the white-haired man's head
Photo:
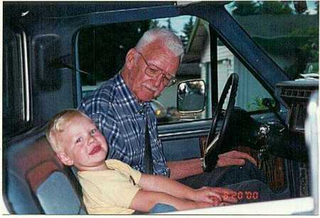
[[[128,50],[134,48],[145,31],[154,27],[168,28],[176,33],[183,41],[186,53],[176,75],[176,84],[164,89],[161,96],[151,102],[159,124],[210,118],[211,107],[208,100],[205,111],[201,113],[181,114],[176,109],[179,82],[201,78],[206,81],[207,88],[210,88],[208,23],[193,16],[111,23],[82,29],[78,36],[78,62],[80,70],[89,72],[89,75],[80,76],[82,97],[117,74],[124,65]],[[194,29],[197,31],[193,31]],[[210,94],[206,97],[209,99]]]

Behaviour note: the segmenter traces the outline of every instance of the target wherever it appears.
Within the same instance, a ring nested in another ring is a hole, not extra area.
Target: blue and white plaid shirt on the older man
[[[90,116],[107,138],[108,158],[122,160],[141,172],[145,172],[144,136],[148,121],[154,173],[169,176],[154,110],[149,102],[139,104],[120,73],[82,99],[78,109]]]

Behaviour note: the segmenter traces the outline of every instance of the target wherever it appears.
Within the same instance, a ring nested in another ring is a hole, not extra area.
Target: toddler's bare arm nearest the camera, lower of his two
[[[149,212],[156,204],[171,205],[178,210],[213,207],[206,202],[193,202],[191,200],[180,199],[164,192],[152,192],[139,190],[130,204],[130,208],[141,212]]]

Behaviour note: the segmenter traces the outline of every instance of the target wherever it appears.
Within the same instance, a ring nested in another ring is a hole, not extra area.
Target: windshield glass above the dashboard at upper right
[[[225,9],[292,79],[319,77],[319,1],[233,1]]]

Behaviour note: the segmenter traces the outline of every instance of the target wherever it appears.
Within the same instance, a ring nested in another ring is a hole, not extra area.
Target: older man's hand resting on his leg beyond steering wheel
[[[252,158],[252,156],[249,154],[240,151],[229,151],[228,153],[222,153],[218,156],[218,158],[218,167],[225,167],[228,165],[244,165],[245,159],[250,160],[251,163],[257,165],[255,158]]]

